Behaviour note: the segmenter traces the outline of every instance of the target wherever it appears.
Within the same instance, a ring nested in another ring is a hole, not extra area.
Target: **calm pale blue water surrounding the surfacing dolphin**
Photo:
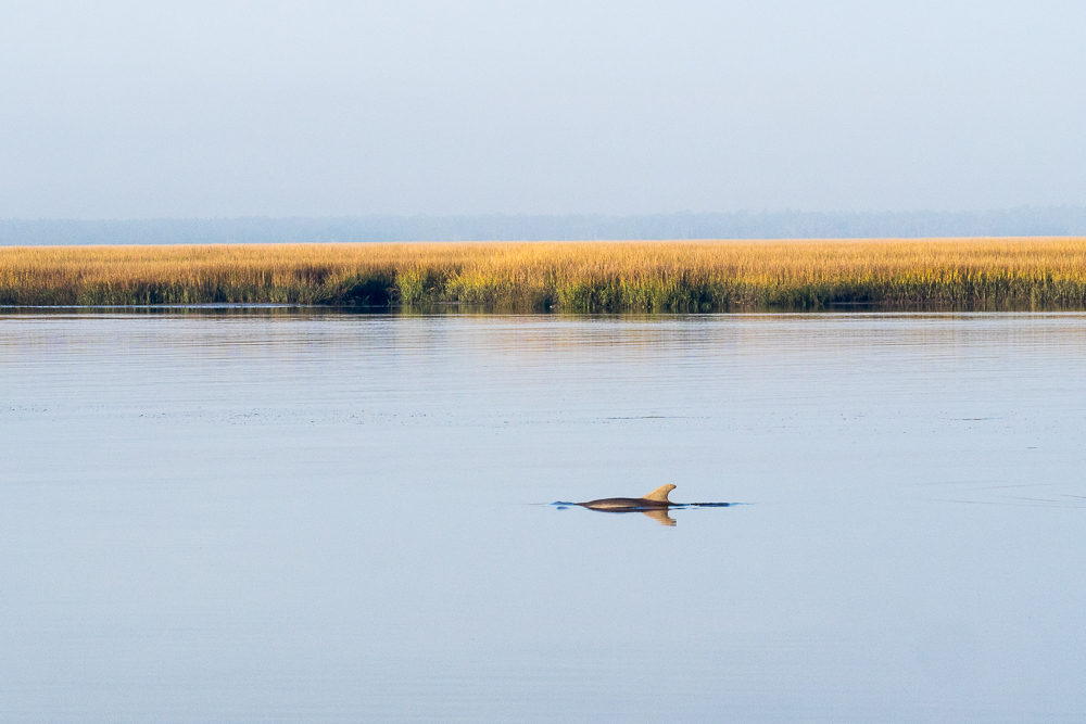
[[[1084,315],[3,315],[0,721],[1079,722],[1084,429]]]

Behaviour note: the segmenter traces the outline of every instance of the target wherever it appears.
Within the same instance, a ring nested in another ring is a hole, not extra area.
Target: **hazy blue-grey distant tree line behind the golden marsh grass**
[[[0,245],[1086,236],[1086,206],[980,212],[0,219]]]

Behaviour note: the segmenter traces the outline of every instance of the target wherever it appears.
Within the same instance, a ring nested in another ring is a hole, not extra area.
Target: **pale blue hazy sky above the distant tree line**
[[[1086,3],[0,3],[0,217],[1086,204]]]

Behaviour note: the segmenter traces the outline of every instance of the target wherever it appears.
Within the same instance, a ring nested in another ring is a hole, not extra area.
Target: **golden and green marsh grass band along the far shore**
[[[0,304],[1086,308],[1086,239],[34,246]]]

